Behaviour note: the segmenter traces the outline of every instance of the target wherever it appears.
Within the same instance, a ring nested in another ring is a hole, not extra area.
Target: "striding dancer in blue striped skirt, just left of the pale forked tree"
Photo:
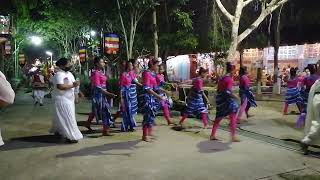
[[[206,102],[209,102],[208,97],[203,91],[203,78],[205,78],[207,75],[208,70],[201,67],[199,69],[199,76],[192,80],[192,88],[187,98],[187,109],[179,122],[181,126],[189,115],[197,114],[200,115],[203,127],[207,128],[208,110],[205,105],[205,101],[203,100],[203,98],[205,98]]]

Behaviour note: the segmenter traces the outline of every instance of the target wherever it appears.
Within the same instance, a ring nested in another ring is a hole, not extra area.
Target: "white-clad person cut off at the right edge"
[[[309,145],[320,145],[320,80],[311,87],[308,97],[305,137],[301,141],[302,150],[308,153]]]

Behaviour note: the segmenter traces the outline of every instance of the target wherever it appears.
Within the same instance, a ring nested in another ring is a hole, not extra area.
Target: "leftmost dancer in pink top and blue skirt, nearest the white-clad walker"
[[[115,98],[117,95],[107,91],[107,76],[104,74],[105,62],[102,58],[94,58],[95,69],[91,72],[91,86],[92,86],[92,113],[90,113],[86,127],[90,127],[93,117],[97,121],[102,120],[103,123],[103,136],[110,136],[111,113],[109,111],[110,105],[107,97]]]

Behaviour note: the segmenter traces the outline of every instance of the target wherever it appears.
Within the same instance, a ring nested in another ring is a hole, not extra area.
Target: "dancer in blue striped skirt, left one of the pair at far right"
[[[288,107],[292,104],[296,104],[301,113],[303,99],[300,94],[299,78],[296,76],[296,70],[294,68],[290,69],[290,79],[287,81],[287,88],[283,114],[288,114]]]

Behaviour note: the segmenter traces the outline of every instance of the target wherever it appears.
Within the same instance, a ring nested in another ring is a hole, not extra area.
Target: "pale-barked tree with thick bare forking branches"
[[[221,0],[216,0],[216,3],[221,10],[221,12],[227,17],[227,19],[232,24],[231,31],[231,44],[228,51],[228,61],[232,61],[237,47],[240,42],[242,42],[248,35],[250,35],[262,22],[270,15],[274,10],[276,10],[280,5],[286,3],[288,0],[259,0],[261,12],[257,19],[251,24],[250,27],[245,29],[239,34],[240,20],[242,17],[242,12],[246,6],[252,3],[254,0],[237,0],[235,5],[235,13],[232,15],[225,6],[221,3]]]

